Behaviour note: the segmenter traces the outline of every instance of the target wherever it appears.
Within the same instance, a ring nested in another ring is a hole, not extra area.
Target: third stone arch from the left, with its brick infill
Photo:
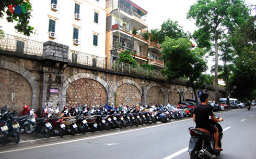
[[[111,96],[113,97],[111,102],[114,103],[114,98],[116,98],[116,104],[123,103],[131,106],[142,102],[142,88],[131,79],[122,79],[114,85]]]

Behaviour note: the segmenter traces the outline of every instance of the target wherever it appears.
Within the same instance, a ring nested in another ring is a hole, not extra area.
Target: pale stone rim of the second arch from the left
[[[66,94],[67,94],[67,89],[68,87],[74,83],[75,81],[77,81],[78,79],[93,79],[97,82],[99,82],[105,89],[107,92],[107,101],[109,100],[109,92],[108,92],[108,84],[106,81],[104,81],[104,79],[100,78],[99,76],[96,76],[95,74],[92,73],[77,73],[74,74],[73,76],[68,77],[65,82],[63,83],[62,86],[62,90],[61,90],[61,105],[65,105],[66,104]]]

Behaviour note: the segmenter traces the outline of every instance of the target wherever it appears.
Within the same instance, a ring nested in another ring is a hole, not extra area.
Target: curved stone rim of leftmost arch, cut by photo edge
[[[39,85],[37,83],[36,78],[25,68],[20,67],[20,65],[17,65],[16,63],[13,62],[9,62],[9,61],[1,61],[1,63],[3,64],[3,69],[7,69],[13,72],[18,73],[19,75],[21,75],[22,77],[24,77],[28,83],[31,86],[32,89],[32,103],[31,103],[31,108],[33,109],[37,109],[39,108],[39,99],[37,97],[39,97]]]

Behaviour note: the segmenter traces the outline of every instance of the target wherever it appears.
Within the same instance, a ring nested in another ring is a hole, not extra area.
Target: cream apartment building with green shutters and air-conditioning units
[[[35,32],[30,37],[17,32],[15,23],[8,23],[6,17],[0,19],[4,33],[18,39],[16,45],[26,45],[27,39],[67,45],[75,62],[81,52],[105,57],[106,1],[31,0],[30,3],[33,9],[30,25]]]

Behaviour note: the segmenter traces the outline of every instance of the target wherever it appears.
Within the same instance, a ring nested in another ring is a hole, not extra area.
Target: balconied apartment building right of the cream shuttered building
[[[120,51],[130,50],[137,63],[148,60],[148,41],[142,37],[147,11],[129,0],[106,0],[106,55],[117,60]]]

